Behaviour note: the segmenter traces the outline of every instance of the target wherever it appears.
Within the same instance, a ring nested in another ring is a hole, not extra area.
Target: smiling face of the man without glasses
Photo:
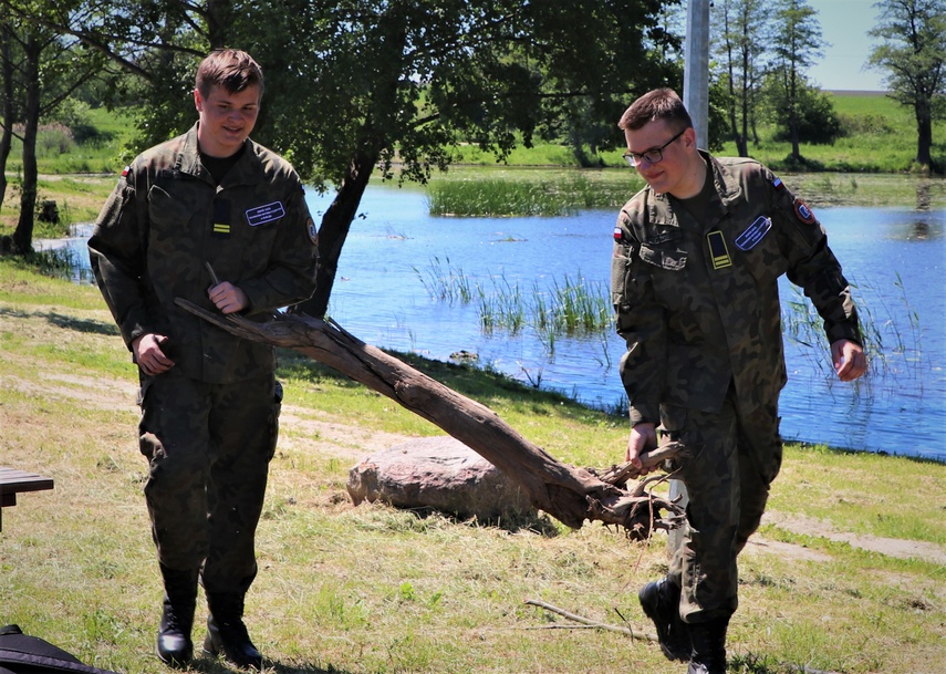
[[[260,95],[259,85],[236,93],[217,85],[210,89],[206,98],[194,90],[194,103],[200,113],[197,127],[200,152],[218,158],[236,154],[256,126]]]

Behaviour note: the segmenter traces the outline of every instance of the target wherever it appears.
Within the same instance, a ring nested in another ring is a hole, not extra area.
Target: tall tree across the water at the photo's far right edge
[[[890,96],[914,110],[916,163],[933,165],[933,121],[946,115],[946,9],[942,0],[884,0],[869,63],[885,72]]]

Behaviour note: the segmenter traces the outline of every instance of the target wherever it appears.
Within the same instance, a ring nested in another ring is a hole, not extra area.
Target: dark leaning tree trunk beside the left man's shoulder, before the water
[[[318,318],[325,315],[329,309],[329,297],[335,283],[335,273],[339,270],[342,247],[345,245],[345,238],[349,236],[378,156],[377,152],[362,149],[352,158],[349,174],[342,180],[332,205],[322,216],[322,226],[319,228],[319,269],[315,273],[315,293],[311,299],[293,308],[293,312]]]

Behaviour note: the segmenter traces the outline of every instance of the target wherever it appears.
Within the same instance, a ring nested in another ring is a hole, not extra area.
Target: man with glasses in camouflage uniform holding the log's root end
[[[786,383],[778,278],[824,320],[836,375],[866,371],[848,281],[812,211],[758,162],[697,149],[675,92],[652,91],[621,117],[627,163],[647,182],[617,218],[612,299],[627,342],[626,460],[675,440],[689,496],[684,542],[641,605],[669,660],[726,671],[736,558],[756,531],[782,457]],[[658,428],[659,426],[659,428]],[[659,431],[659,438],[658,438]]]

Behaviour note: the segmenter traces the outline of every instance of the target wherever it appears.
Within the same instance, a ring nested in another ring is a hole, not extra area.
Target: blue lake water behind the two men
[[[316,221],[329,199],[310,193]],[[481,366],[527,384],[593,406],[624,405],[617,363],[625,346],[613,330],[557,336],[554,349],[529,326],[516,334],[485,333],[475,301],[433,299],[422,280],[439,265],[485,289],[551,288],[565,277],[582,277],[606,292],[615,211],[432,217],[423,190],[385,185],[370,186],[360,210],[330,303],[330,315],[349,332],[376,346],[443,361],[456,352],[475,353]],[[815,211],[882,351],[873,354],[872,372],[851,385],[834,379],[827,344],[810,348],[787,339],[783,437],[946,460],[946,210],[842,206]],[[82,251],[87,268],[84,238],[71,245]],[[787,281],[781,290],[786,315],[789,302],[800,295]]]

